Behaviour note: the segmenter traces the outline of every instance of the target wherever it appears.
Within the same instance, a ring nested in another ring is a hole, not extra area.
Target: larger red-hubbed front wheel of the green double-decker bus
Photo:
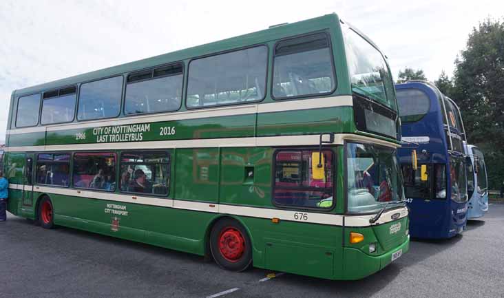
[[[227,270],[243,271],[252,264],[252,245],[245,228],[231,218],[219,220],[210,234],[210,250],[216,263]]]

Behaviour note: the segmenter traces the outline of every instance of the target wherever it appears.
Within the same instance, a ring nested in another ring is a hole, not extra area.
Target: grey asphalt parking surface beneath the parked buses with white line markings
[[[196,255],[72,228],[45,230],[13,215],[0,223],[0,251],[5,298],[504,297],[504,204],[492,204],[451,240],[412,241],[409,253],[359,281],[232,273]]]

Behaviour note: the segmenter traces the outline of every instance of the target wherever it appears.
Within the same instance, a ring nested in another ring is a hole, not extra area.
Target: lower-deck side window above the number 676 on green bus
[[[277,151],[273,191],[275,204],[308,209],[330,209],[333,206],[333,153],[322,152],[322,173],[314,175],[313,153],[318,154],[318,151]],[[317,162],[315,157],[315,164]]]

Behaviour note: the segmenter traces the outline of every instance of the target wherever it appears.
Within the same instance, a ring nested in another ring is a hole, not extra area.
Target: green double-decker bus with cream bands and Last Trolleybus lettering
[[[15,90],[8,210],[360,279],[408,251],[398,130],[384,54],[328,14]]]

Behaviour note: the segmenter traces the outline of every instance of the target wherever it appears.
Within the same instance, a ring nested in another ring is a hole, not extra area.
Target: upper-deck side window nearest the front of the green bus
[[[335,75],[329,44],[325,33],[280,41],[273,61],[273,97],[332,92]]]

